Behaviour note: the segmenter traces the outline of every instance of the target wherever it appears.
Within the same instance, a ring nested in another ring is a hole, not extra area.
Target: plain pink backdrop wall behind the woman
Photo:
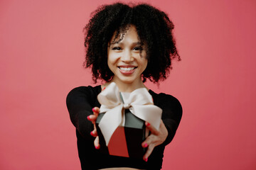
[[[182,57],[147,84],[183,106],[163,169],[256,169],[256,2],[145,2],[169,13]],[[92,85],[82,28],[100,4],[0,1],[0,169],[80,169],[65,97]]]

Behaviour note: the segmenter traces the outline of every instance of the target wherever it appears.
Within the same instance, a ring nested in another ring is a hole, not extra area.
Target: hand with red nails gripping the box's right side
[[[148,122],[145,123],[146,128],[148,128],[151,132],[151,134],[146,137],[146,140],[142,142],[142,147],[147,147],[146,153],[144,154],[144,161],[147,162],[147,159],[149,155],[152,153],[154,147],[157,145],[161,145],[168,135],[168,131],[166,129],[166,126],[163,123],[163,120],[161,120],[159,130],[156,130],[152,125],[150,125]]]

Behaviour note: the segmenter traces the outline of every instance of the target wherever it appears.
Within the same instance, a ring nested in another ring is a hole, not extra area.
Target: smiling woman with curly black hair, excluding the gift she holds
[[[85,67],[92,67],[92,79],[101,86],[80,86],[70,91],[67,106],[78,137],[82,169],[161,169],[164,147],[173,139],[182,108],[171,95],[156,94],[144,81],[166,79],[171,60],[178,56],[172,35],[173,23],[166,13],[153,6],[112,4],[100,6],[85,27]],[[162,109],[159,130],[149,123],[151,134],[142,142],[143,159],[115,157],[99,151],[95,120],[100,112],[97,95],[114,82],[119,91],[146,88],[154,105]],[[90,120],[90,121],[88,121]]]

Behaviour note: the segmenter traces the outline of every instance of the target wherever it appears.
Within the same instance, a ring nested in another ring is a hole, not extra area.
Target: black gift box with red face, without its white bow
[[[142,147],[142,142],[146,139],[146,126],[144,120],[137,118],[129,109],[125,109],[124,126],[117,127],[110,138],[108,146],[99,128],[99,123],[105,113],[100,113],[96,128],[100,139],[100,151],[119,157],[134,157],[142,159],[146,148]]]

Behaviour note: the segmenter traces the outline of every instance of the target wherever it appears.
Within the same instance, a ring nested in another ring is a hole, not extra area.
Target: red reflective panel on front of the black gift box
[[[111,155],[129,157],[124,127],[119,126],[113,133],[107,146]]]

